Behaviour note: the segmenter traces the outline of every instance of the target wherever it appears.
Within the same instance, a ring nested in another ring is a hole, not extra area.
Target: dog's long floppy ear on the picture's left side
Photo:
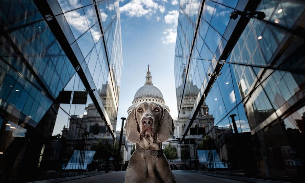
[[[140,133],[138,131],[138,122],[135,116],[135,109],[132,109],[128,115],[126,124],[126,138],[131,143],[138,143],[140,141]]]

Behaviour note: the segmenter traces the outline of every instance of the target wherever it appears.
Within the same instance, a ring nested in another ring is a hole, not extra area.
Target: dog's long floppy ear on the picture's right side
[[[174,122],[173,118],[168,113],[167,109],[163,108],[163,117],[159,124],[159,130],[157,134],[157,140],[159,142],[166,142],[174,135]]]

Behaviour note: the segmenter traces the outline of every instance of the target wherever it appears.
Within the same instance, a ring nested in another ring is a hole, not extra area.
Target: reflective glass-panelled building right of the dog
[[[194,157],[195,169],[304,179],[304,9],[299,0],[180,1],[174,65],[179,117],[189,93],[197,91],[180,143],[202,105],[213,116],[190,147],[207,151]],[[230,19],[233,11],[241,15]]]

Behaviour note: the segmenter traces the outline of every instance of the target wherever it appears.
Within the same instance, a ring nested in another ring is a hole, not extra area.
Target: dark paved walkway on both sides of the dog
[[[207,176],[207,175],[202,175],[202,174],[195,174],[195,173],[190,173],[187,171],[182,171],[182,170],[174,170],[173,171],[176,182],[177,183],[185,183],[185,182],[213,182],[213,183],[223,183],[223,182],[241,182],[241,181],[234,181],[230,179],[224,179],[224,178],[217,178],[217,177],[212,177],[212,176]],[[125,180],[125,172],[120,171],[120,172],[111,172],[108,174],[102,174],[102,175],[96,175],[92,177],[87,177],[87,178],[81,178],[81,179],[76,179],[72,181],[66,181],[66,183],[78,183],[78,182],[107,182],[107,183],[119,183],[119,182],[124,182]]]

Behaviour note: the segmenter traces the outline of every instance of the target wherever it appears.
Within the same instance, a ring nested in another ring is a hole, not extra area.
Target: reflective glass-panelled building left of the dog
[[[0,181],[105,170],[112,155],[93,152],[115,139],[119,1],[0,4]]]

